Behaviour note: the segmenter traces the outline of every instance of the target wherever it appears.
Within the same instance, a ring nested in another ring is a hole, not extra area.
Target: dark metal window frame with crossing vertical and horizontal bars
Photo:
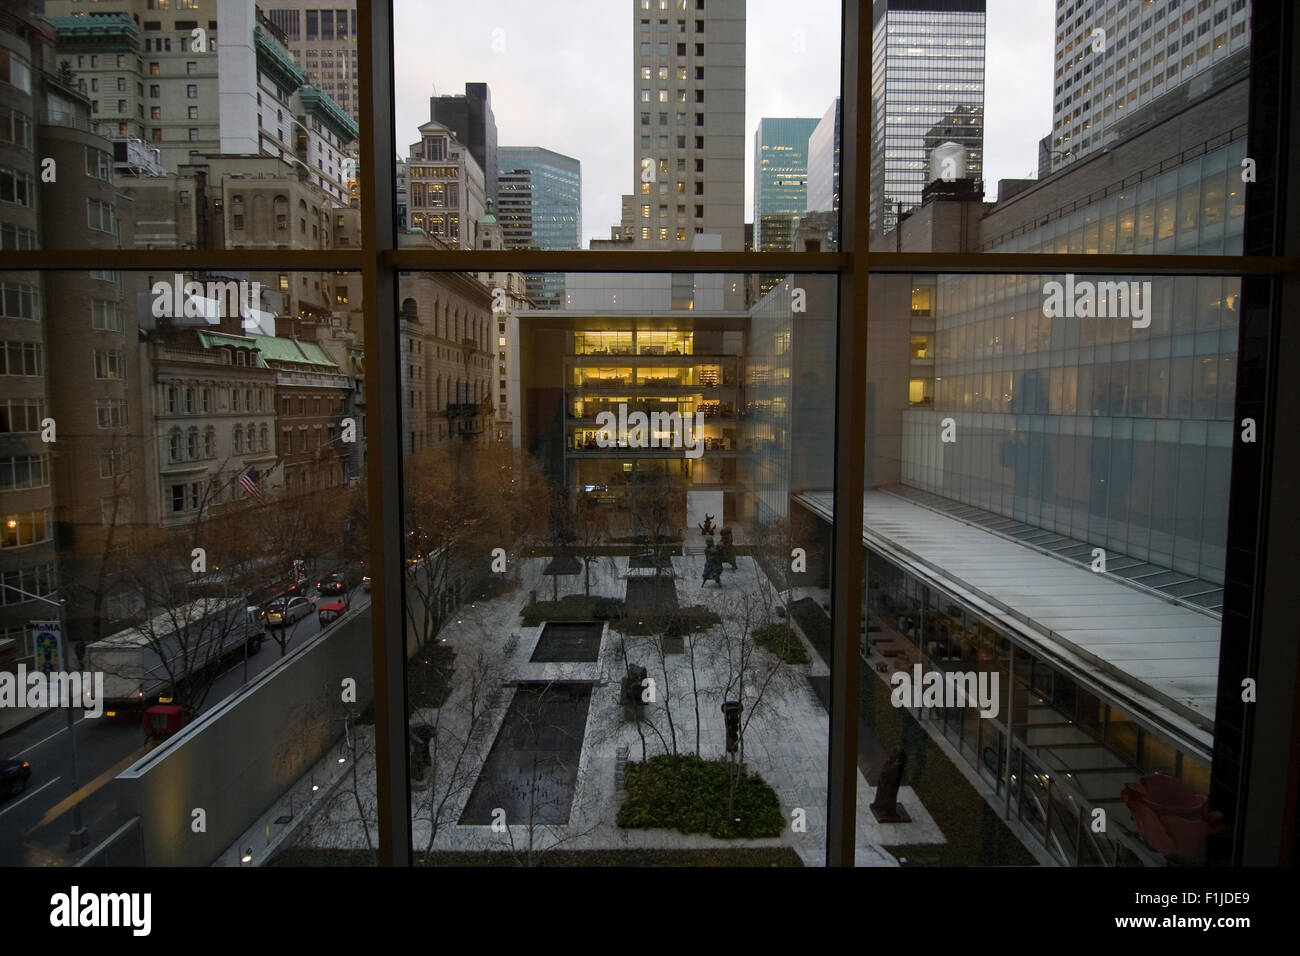
[[[1275,9],[1274,9],[1275,8]],[[1258,320],[1243,320],[1242,345],[1253,350],[1261,376],[1239,376],[1236,412],[1261,421],[1256,446],[1238,442],[1232,458],[1227,593],[1219,674],[1219,709],[1231,714],[1216,727],[1212,805],[1225,806],[1228,839],[1221,862],[1290,862],[1296,840],[1297,765],[1279,773],[1277,760],[1300,740],[1300,695],[1270,683],[1257,708],[1242,708],[1236,688],[1243,675],[1265,672],[1294,678],[1297,650],[1284,641],[1294,631],[1290,581],[1296,553],[1270,529],[1300,527],[1300,503],[1288,497],[1291,473],[1300,468],[1295,436],[1300,431],[1300,390],[1284,393],[1278,368],[1300,364],[1300,332],[1282,321],[1300,313],[1300,191],[1286,190],[1290,156],[1300,152],[1291,116],[1300,85],[1290,56],[1297,43],[1296,12],[1290,4],[1252,7],[1252,142],[1266,143],[1271,170],[1247,194],[1243,256],[1087,255],[1087,254],[909,254],[872,252],[866,207],[870,199],[871,0],[841,0],[841,229],[838,252],[659,252],[624,251],[416,251],[396,248],[393,0],[358,0],[361,245],[335,250],[150,250],[150,268],[257,269],[268,272],[360,272],[363,278],[367,406],[376,423],[368,429],[372,640],[376,695],[376,784],[378,860],[410,865],[411,797],[406,747],[406,654],[402,558],[400,376],[378,369],[400,367],[395,317],[398,272],[712,272],[823,273],[838,282],[836,356],[836,501],[862,501],[866,434],[850,425],[866,399],[867,295],[871,273],[941,274],[1143,274],[1232,276],[1268,299]],[[1257,104],[1266,105],[1264,116]],[[1271,126],[1269,125],[1271,121]],[[1262,169],[1262,168],[1261,168]],[[1252,238],[1253,237],[1253,238]],[[4,269],[139,269],[140,250],[6,251]],[[1249,325],[1249,328],[1247,328]],[[1286,427],[1284,427],[1286,425]],[[829,714],[827,864],[854,862],[858,761],[858,630],[862,588],[862,509],[837,507],[832,529],[833,661]],[[394,574],[395,572],[395,574]],[[1262,585],[1262,587],[1261,587]],[[1268,643],[1264,633],[1270,635]],[[1286,684],[1286,682],[1283,682]],[[1235,702],[1234,702],[1235,701]],[[1279,839],[1280,835],[1280,839]]]

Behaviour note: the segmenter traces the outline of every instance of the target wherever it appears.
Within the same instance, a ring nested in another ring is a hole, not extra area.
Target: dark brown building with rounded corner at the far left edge
[[[113,143],[58,68],[55,35],[0,12],[0,250],[116,248]],[[44,169],[58,170],[55,181]],[[0,663],[32,665],[34,600],[62,588],[69,627],[91,633],[92,588],[112,561],[109,528],[138,520],[144,412],[138,332],[120,273],[0,276]],[[55,358],[57,356],[57,360]],[[62,442],[62,444],[60,444]],[[74,446],[77,454],[57,454]],[[57,551],[56,551],[57,548]],[[105,614],[121,605],[104,597]],[[23,714],[5,709],[0,730]]]

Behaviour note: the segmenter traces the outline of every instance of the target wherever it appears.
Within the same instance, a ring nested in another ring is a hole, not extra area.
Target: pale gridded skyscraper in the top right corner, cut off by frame
[[[1251,44],[1251,0],[1083,7],[1057,0],[1053,169],[1127,135],[1134,111],[1208,91],[1217,68]]]

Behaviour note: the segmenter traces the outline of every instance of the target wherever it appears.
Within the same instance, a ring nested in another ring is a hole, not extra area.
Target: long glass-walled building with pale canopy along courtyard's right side
[[[931,194],[901,250],[1240,254],[1247,96],[1240,72],[988,209]],[[1049,282],[1096,282],[1098,308],[1057,313]],[[1049,858],[1161,865],[1121,791],[1160,773],[1209,792],[1242,281],[900,276],[871,295],[867,663],[998,671],[1000,717],[939,709],[931,734]],[[829,493],[790,488],[832,520]]]

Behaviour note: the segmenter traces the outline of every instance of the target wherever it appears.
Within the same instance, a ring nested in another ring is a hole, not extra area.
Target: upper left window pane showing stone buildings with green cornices
[[[22,194],[34,190],[29,182],[39,182],[46,172],[43,164],[57,164],[58,189],[46,190],[42,199],[43,247],[358,245],[356,235],[338,235],[329,226],[332,211],[348,208],[356,198],[348,186],[359,152],[350,10],[308,10],[304,31],[300,9],[273,9],[260,18],[261,8],[238,5],[222,9],[217,33],[214,25],[196,18],[196,8],[172,3],[150,10],[143,23],[126,13],[104,14],[108,20],[96,27],[95,43],[109,56],[64,56],[62,49],[84,48],[78,46],[84,43],[78,33],[87,16],[82,7],[72,0],[48,4],[51,62],[32,73],[35,88],[16,94],[21,103],[6,101],[36,122],[34,129],[20,125],[13,134],[16,140],[35,137],[23,143],[26,159],[14,165],[16,151],[0,160],[0,207],[6,200],[23,203]],[[312,29],[318,13],[330,25],[325,40],[318,26]],[[335,23],[343,29],[335,31]],[[143,55],[142,42],[148,44]],[[230,64],[218,69],[228,57],[243,62],[239,57],[250,46],[257,69]],[[98,100],[92,112],[61,92],[56,79],[62,62],[72,72],[73,88],[84,85],[117,95]],[[248,107],[222,114],[222,96],[235,96]],[[0,111],[0,140],[6,138],[5,116]],[[87,133],[94,142],[86,143]],[[247,209],[234,209],[224,195],[239,178],[246,181]],[[195,194],[208,203],[205,221],[187,202]],[[281,220],[285,211],[277,209],[277,196],[294,207],[304,199],[306,215]],[[31,208],[31,219],[35,212]],[[235,213],[243,216],[242,229],[235,226]],[[26,220],[20,225],[29,226]]]

